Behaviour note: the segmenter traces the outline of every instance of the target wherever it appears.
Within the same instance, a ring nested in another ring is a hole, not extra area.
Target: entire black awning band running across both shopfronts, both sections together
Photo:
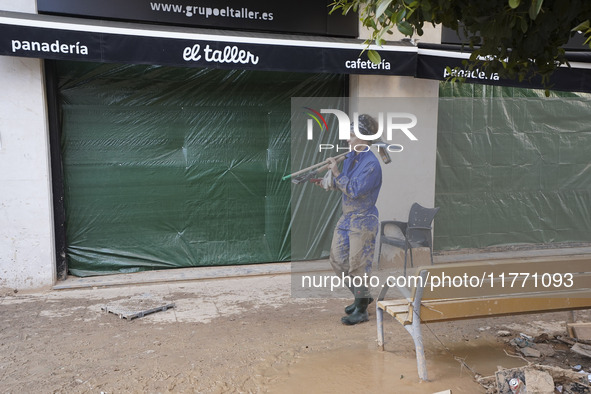
[[[518,81],[486,75],[481,69],[468,70],[462,62],[469,53],[441,45],[374,47],[382,57],[378,64],[369,61],[365,49],[362,40],[167,29],[0,11],[0,55],[4,56],[444,81],[457,76],[469,83],[543,87],[540,78]],[[551,89],[591,92],[591,56],[573,60],[570,67],[560,67],[552,75]]]

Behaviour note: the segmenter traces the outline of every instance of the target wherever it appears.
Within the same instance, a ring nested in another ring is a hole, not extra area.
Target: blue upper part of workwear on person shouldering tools
[[[382,187],[382,167],[373,152],[355,153],[345,156],[343,171],[335,179],[335,187],[343,192],[343,216],[337,224],[342,230],[377,225],[376,201]]]

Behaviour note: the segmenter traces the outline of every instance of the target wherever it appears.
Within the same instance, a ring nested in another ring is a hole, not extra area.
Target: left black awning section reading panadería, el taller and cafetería
[[[105,63],[261,71],[414,75],[416,48],[386,46],[382,61],[360,58],[361,40],[155,30],[117,22],[0,12],[0,55]]]

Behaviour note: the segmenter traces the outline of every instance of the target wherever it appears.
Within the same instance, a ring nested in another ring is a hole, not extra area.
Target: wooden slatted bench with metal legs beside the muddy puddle
[[[428,377],[421,323],[591,308],[589,255],[435,264],[406,280],[409,286],[398,287],[405,299],[384,300],[387,285],[378,296],[378,346],[384,350],[386,312],[412,336],[422,380]]]

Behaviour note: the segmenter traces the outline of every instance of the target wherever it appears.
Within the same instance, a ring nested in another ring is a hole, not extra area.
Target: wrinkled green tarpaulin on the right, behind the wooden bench
[[[435,248],[591,241],[591,96],[442,83]]]

